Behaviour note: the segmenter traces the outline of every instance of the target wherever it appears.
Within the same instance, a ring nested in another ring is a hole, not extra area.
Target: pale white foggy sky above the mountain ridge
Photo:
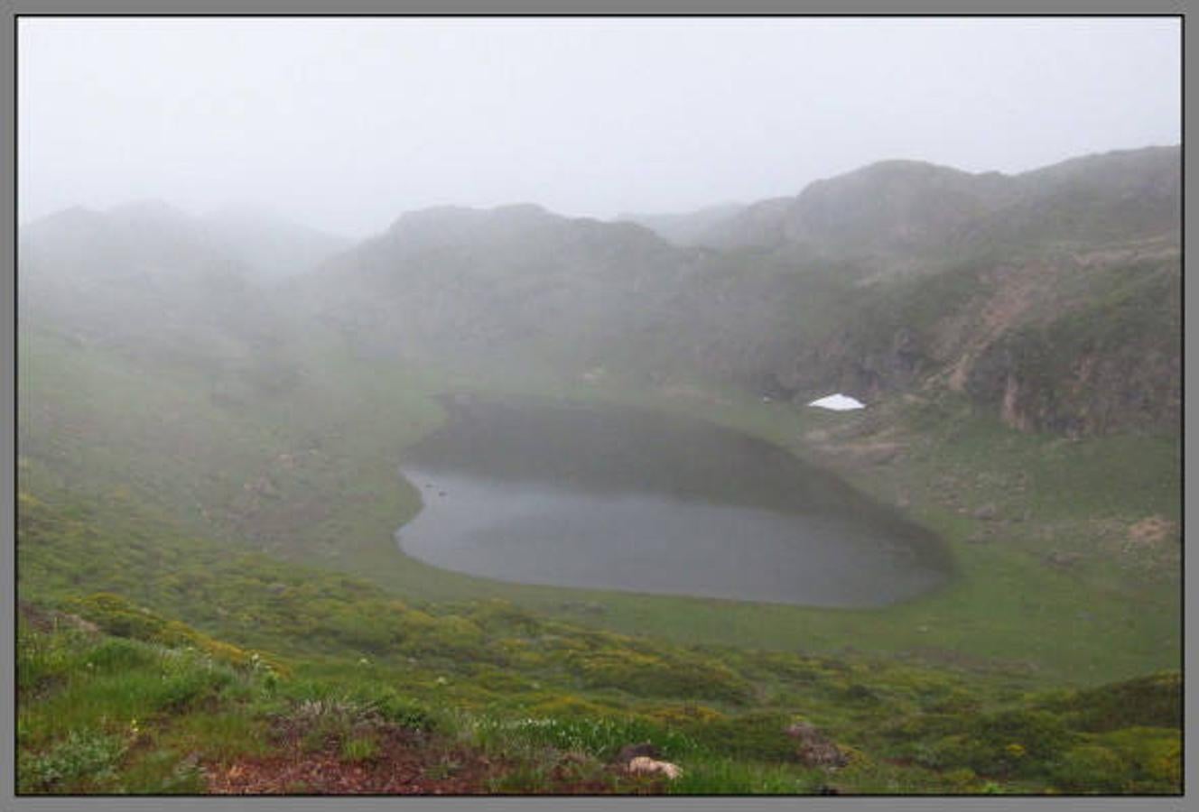
[[[162,199],[361,236],[441,204],[686,211],[885,158],[1181,139],[1174,19],[31,19],[20,219]]]

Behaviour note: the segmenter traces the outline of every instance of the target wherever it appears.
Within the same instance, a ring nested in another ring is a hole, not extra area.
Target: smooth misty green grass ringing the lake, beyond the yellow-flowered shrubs
[[[197,382],[183,372],[146,380],[102,351],[30,334],[22,341],[23,480],[94,493],[128,487],[139,499],[182,514],[197,532],[257,537],[263,550],[344,569],[416,601],[504,598],[687,643],[891,652],[1032,669],[1047,680],[1102,681],[1179,662],[1170,551],[1123,555],[1102,535],[1115,539],[1149,515],[1176,519],[1171,441],[1061,443],[1007,431],[952,404],[897,405],[875,412],[870,419],[879,425],[872,428],[862,416],[805,412],[731,393],[662,398],[613,380],[576,386],[536,377],[430,377],[353,360],[331,343],[313,341],[301,389],[222,407],[193,398]],[[404,446],[440,420],[432,395],[471,386],[688,412],[839,467],[879,498],[893,499],[902,490],[914,515],[946,538],[960,577],[938,594],[885,611],[807,610],[505,584],[427,566],[398,555],[392,541],[394,528],[420,504],[396,466]],[[831,431],[833,440],[813,443],[813,431]],[[858,436],[837,440],[838,431]],[[882,466],[855,462],[845,449],[870,441],[863,432],[872,431],[910,450]],[[312,448],[319,453],[301,454]],[[281,454],[301,461],[281,463]],[[270,493],[245,490],[264,474]],[[1023,491],[1007,486],[1022,474]],[[225,515],[221,505],[230,503],[239,507]],[[1028,520],[970,516],[988,503],[1000,505],[1004,516],[1026,513]],[[968,543],[980,528],[998,535],[988,544]],[[1048,550],[1081,550],[1087,557],[1056,568],[1043,560]],[[1167,560],[1153,566],[1150,553]]]

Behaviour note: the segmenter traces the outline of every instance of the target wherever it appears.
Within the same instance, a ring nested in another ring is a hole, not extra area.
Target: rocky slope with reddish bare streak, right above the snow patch
[[[1181,255],[1173,238],[896,283],[777,386],[868,398],[947,388],[1022,431],[1176,429]],[[933,307],[939,303],[941,307]]]

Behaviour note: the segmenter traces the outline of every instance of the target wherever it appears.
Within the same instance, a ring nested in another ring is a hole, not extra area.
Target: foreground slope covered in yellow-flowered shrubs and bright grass
[[[481,758],[496,766],[448,788],[652,789],[607,766],[645,740],[685,765],[671,792],[817,792],[830,777],[796,759],[784,728],[797,719],[848,755],[843,792],[1177,784],[1176,675],[1030,693],[1000,673],[682,647],[502,601],[422,610],[359,578],[179,535],[134,502],[22,501],[22,596],[72,613],[24,613],[26,792],[199,792],[261,759],[278,771],[324,758],[357,775],[410,757],[393,734],[414,728],[426,733],[406,750],[424,759],[414,783],[427,792],[447,763]]]

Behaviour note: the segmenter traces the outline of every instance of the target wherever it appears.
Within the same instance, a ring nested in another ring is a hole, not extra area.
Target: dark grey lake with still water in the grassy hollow
[[[942,583],[927,531],[761,440],[655,412],[454,398],[402,468],[408,555],[519,583],[880,606]]]

